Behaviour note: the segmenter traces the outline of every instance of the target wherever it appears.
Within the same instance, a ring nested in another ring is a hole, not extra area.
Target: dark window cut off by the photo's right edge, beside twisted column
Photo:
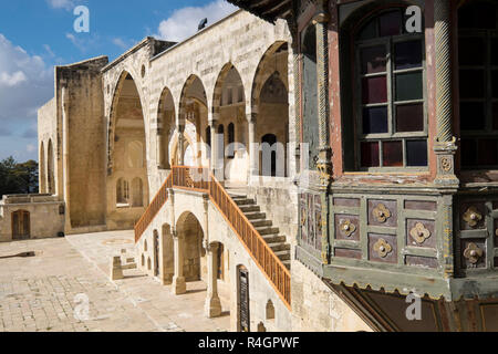
[[[458,10],[463,168],[498,168],[497,8],[470,1]]]

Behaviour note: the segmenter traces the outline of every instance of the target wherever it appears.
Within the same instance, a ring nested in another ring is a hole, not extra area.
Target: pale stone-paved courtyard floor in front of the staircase
[[[138,270],[110,281],[111,257],[122,249],[133,254],[133,232],[0,243],[0,332],[229,330],[228,312],[205,317],[203,282],[188,283],[188,293],[175,296]],[[11,257],[21,252],[35,256]],[[228,309],[222,287],[220,298]]]

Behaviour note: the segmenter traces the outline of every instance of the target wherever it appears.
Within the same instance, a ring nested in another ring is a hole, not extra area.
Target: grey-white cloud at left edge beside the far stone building
[[[53,70],[0,33],[0,126],[34,138],[37,111],[53,96]],[[35,139],[34,139],[35,140]],[[1,146],[1,148],[6,148]]]

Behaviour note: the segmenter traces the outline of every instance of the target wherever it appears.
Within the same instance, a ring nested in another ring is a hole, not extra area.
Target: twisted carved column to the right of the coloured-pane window
[[[438,185],[458,185],[455,176],[456,138],[453,136],[453,82],[452,82],[452,30],[450,1],[434,1],[436,39],[436,121]]]

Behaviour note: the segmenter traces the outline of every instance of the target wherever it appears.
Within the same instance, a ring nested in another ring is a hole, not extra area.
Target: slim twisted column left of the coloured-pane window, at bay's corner
[[[329,19],[326,0],[319,0],[313,23],[317,28],[317,77],[320,153],[317,168],[320,184],[326,189],[332,174],[332,150],[329,142]]]

